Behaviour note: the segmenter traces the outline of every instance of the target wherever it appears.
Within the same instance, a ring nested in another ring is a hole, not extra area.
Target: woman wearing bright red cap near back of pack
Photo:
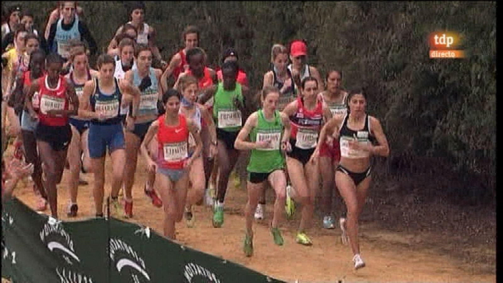
[[[295,40],[290,44],[290,60],[288,69],[292,72],[297,88],[300,82],[309,76],[318,81],[318,90],[323,91],[323,83],[316,67],[307,64],[307,46],[303,40]]]

